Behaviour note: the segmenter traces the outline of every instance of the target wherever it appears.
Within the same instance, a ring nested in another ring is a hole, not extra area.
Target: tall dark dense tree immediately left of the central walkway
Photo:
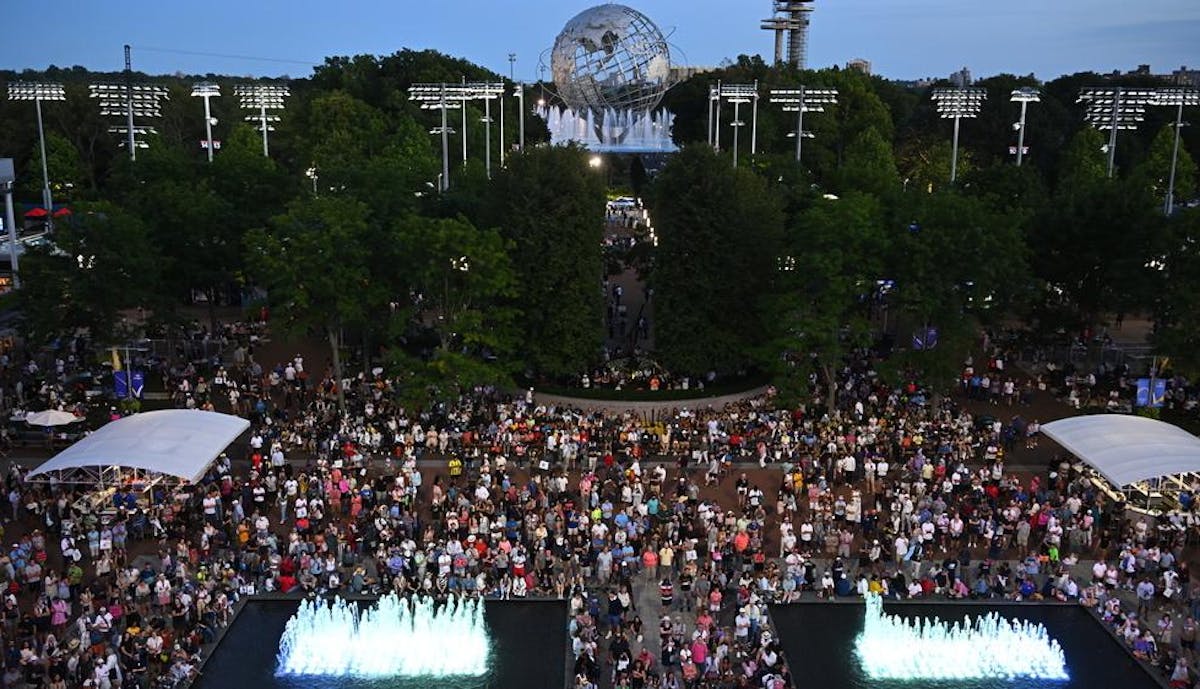
[[[575,376],[604,342],[604,184],[575,146],[528,149],[491,187],[490,221],[511,242],[529,366]]]

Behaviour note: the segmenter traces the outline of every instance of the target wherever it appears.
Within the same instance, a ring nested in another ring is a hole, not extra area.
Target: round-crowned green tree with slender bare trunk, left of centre
[[[367,229],[365,204],[330,196],[294,200],[270,228],[246,235],[250,265],[268,290],[276,323],[293,332],[320,331],[329,341],[343,409],[343,328],[367,318],[379,288],[367,269],[374,250]]]

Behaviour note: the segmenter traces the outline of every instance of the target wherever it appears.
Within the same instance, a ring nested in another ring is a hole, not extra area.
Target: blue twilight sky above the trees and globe
[[[0,68],[83,65],[156,73],[307,76],[326,55],[436,48],[516,76],[538,61],[582,0],[14,0],[4,11]],[[673,61],[770,58],[758,29],[769,0],[634,0],[671,32]],[[173,52],[166,52],[169,49]],[[186,54],[185,54],[186,53]],[[198,54],[190,54],[198,53]],[[223,56],[217,56],[223,55]],[[269,58],[271,60],[245,59]],[[809,65],[871,60],[890,78],[1012,72],[1051,79],[1150,64],[1200,68],[1198,0],[815,0]],[[548,56],[546,58],[548,60]]]

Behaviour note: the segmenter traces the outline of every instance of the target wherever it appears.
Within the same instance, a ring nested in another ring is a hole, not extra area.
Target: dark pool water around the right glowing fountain
[[[804,604],[774,606],[772,619],[792,676],[799,687],[821,689],[1157,689],[1159,684],[1079,607],[1048,605],[928,605],[888,603],[884,612],[905,618],[932,617],[959,622],[995,610],[1002,617],[1045,625],[1067,655],[1066,682],[1038,679],[876,681],[868,679],[854,655],[854,636],[863,629],[864,606]]]

